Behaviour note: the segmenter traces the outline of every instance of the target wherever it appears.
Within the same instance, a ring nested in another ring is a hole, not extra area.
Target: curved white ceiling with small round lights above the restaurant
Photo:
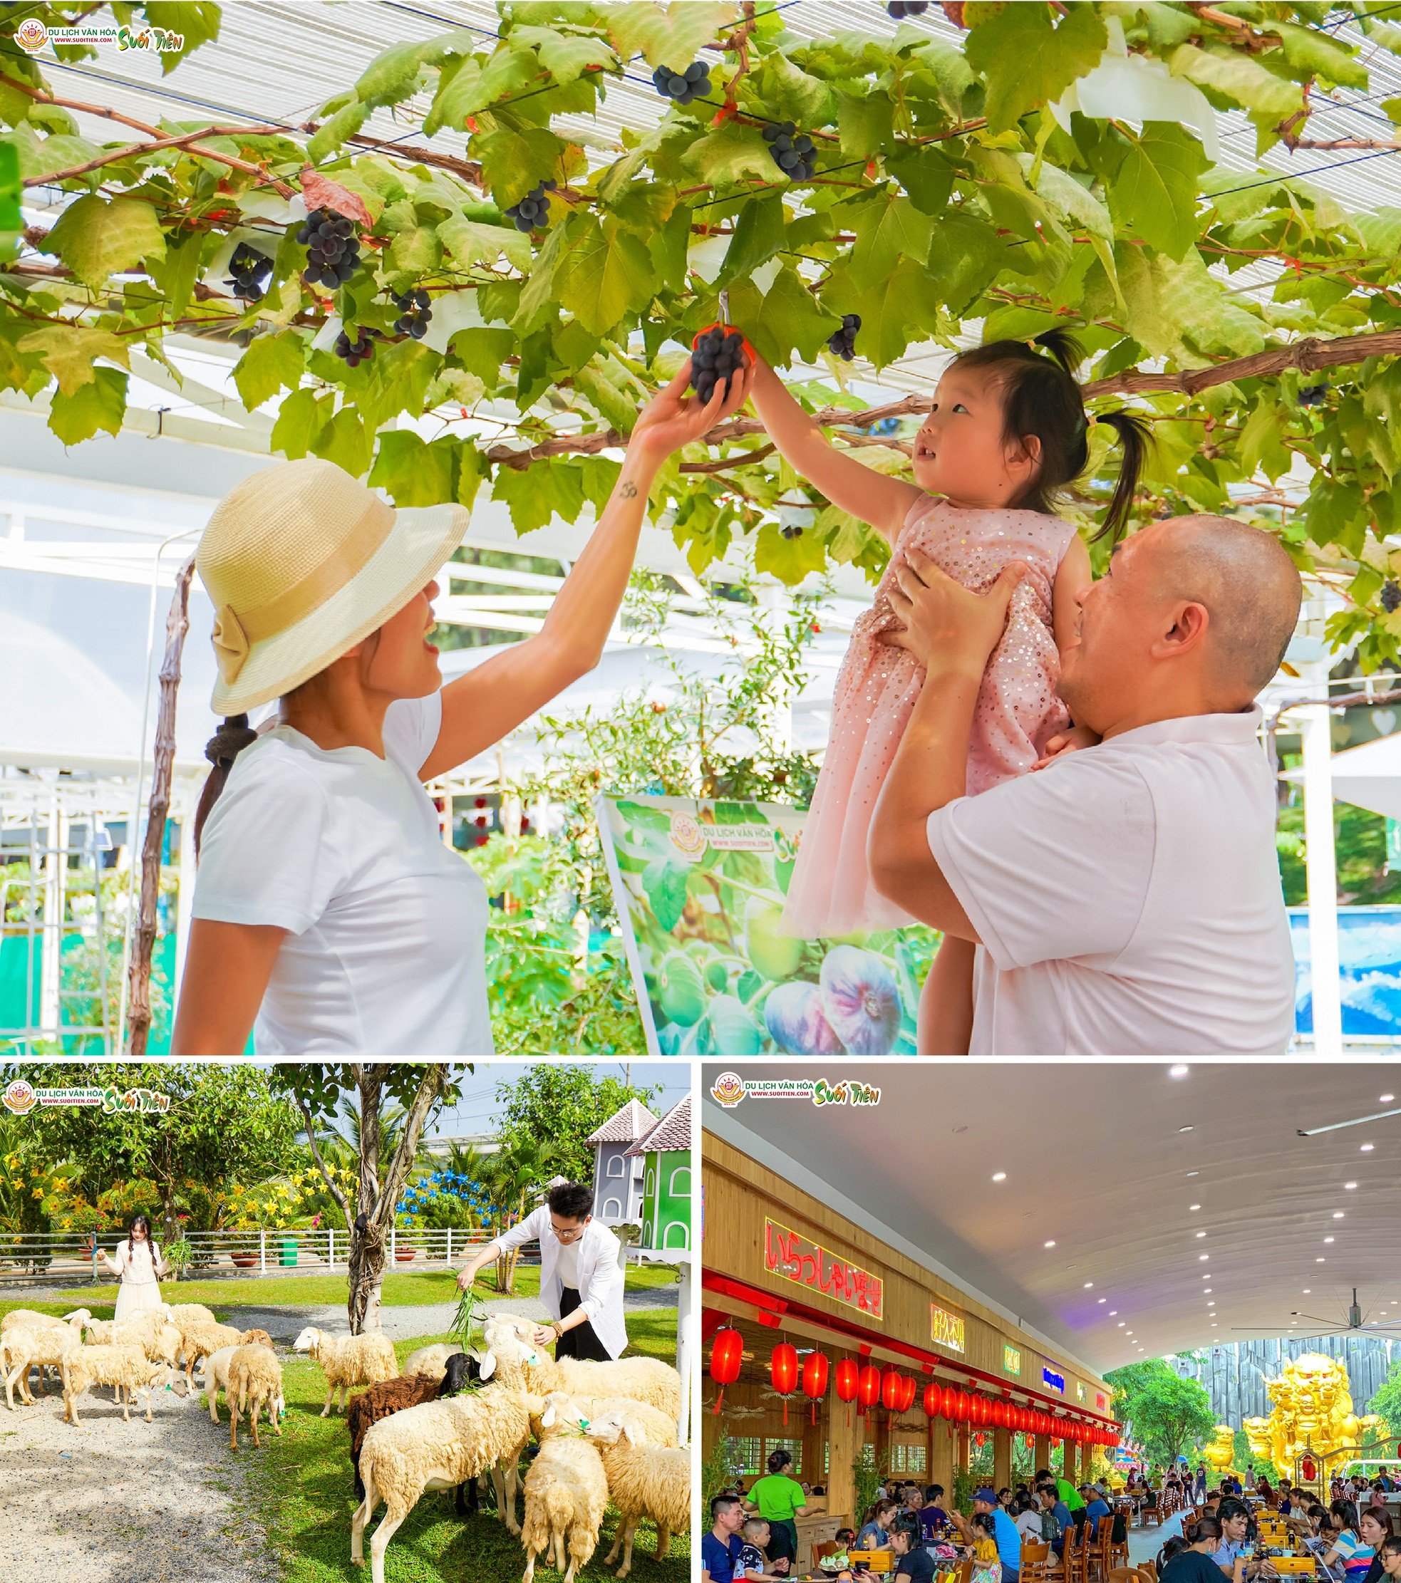
[[[860,1076],[880,1103],[731,1111],[709,1097],[723,1070],[703,1067],[706,1129],[1099,1372],[1319,1334],[1292,1311],[1346,1323],[1354,1285],[1368,1320],[1401,1323],[1401,1114],[1298,1137],[1396,1108],[1379,1097],[1401,1065],[752,1062],[747,1080]]]

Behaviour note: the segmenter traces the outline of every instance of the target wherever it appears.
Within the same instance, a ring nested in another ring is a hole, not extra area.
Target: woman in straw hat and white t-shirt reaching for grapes
[[[662,462],[742,402],[690,364],[641,412],[587,545],[524,643],[446,687],[434,575],[458,505],[393,508],[332,462],[268,467],[214,510],[196,567],[223,728],[207,747],[190,943],[171,1053],[486,1056],[488,904],[423,784],[590,671],[627,589]],[[280,700],[263,730],[249,711]],[[256,1027],[255,1027],[256,1019]]]

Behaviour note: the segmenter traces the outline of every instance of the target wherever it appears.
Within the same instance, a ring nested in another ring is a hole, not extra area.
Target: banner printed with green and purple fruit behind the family
[[[684,796],[597,809],[652,1054],[915,1053],[929,931],[779,929],[801,809]]]

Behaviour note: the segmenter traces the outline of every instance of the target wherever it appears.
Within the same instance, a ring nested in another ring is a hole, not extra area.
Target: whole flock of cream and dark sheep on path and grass
[[[359,1505],[350,1528],[350,1559],[364,1564],[364,1531],[383,1504],[370,1537],[374,1583],[385,1583],[385,1550],[423,1494],[454,1490],[458,1510],[476,1510],[478,1479],[489,1479],[497,1512],[526,1550],[522,1583],[532,1583],[537,1556],[564,1574],[564,1583],[592,1559],[606,1507],[617,1513],[611,1566],[632,1570],[636,1526],[657,1528],[657,1559],[671,1534],[690,1523],[690,1452],[678,1445],[681,1379],[655,1358],[613,1363],[556,1360],[535,1347],[532,1320],[499,1314],[486,1322],[481,1352],[456,1346],[421,1347],[399,1372],[380,1331],[328,1336],[306,1328],[294,1350],[309,1355],[326,1379],[328,1417],[339,1395],[350,1428],[350,1463]],[[203,1361],[196,1382],[195,1365]],[[285,1410],[282,1366],[263,1330],[220,1325],[198,1303],[161,1304],[117,1325],[87,1309],[63,1319],[16,1309],[0,1320],[5,1398],[24,1401],[30,1369],[57,1369],[63,1418],[78,1423],[78,1399],[92,1385],[111,1385],[130,1422],[130,1404],[166,1387],[184,1396],[204,1391],[218,1422],[218,1391],[230,1409],[230,1442],[237,1447],[247,1414],[253,1444],[266,1414],[277,1434]],[[359,1390],[359,1387],[366,1387]],[[355,1396],[348,1391],[356,1388]],[[518,1469],[530,1442],[537,1452],[524,1479],[524,1517],[516,1517]]]

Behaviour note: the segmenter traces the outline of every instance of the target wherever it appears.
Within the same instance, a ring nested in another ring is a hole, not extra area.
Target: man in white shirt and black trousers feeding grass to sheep
[[[535,1344],[557,1342],[556,1358],[608,1363],[627,1346],[622,1319],[619,1241],[594,1219],[594,1189],[584,1183],[551,1187],[538,1209],[480,1249],[458,1276],[465,1292],[476,1271],[499,1254],[540,1243],[540,1301],[554,1315],[538,1325]]]

